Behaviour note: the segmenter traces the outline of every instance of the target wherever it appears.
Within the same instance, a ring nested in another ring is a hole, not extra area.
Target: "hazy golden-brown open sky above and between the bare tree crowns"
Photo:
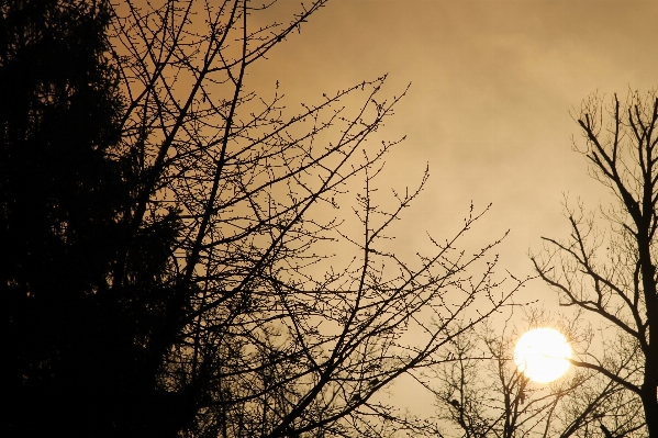
[[[299,4],[283,0],[277,13]],[[471,201],[492,203],[470,238],[510,229],[500,267],[525,277],[540,236],[567,237],[565,195],[589,209],[610,201],[572,150],[581,137],[570,111],[593,92],[658,87],[657,19],[656,0],[332,0],[247,85],[278,80],[294,105],[383,74],[389,96],[411,83],[383,130],[406,141],[380,184],[413,187],[426,164],[431,178],[397,245],[413,252],[424,231],[454,233]],[[539,280],[522,293],[557,303]]]

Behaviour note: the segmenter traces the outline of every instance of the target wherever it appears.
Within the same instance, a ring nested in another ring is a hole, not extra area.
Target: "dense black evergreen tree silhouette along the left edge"
[[[0,11],[3,428],[88,434],[107,426],[101,386],[115,383],[101,296],[130,207],[127,161],[113,156],[109,7],[12,0]]]

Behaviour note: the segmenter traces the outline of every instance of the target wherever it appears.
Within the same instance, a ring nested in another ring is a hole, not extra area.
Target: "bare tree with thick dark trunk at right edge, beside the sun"
[[[615,201],[600,217],[566,205],[568,239],[544,238],[531,258],[560,305],[579,307],[602,324],[602,349],[571,360],[623,386],[642,402],[646,435],[658,437],[658,295],[656,205],[658,201],[658,97],[596,96],[575,117],[585,139],[577,147],[594,179]],[[607,436],[607,435],[606,435]]]

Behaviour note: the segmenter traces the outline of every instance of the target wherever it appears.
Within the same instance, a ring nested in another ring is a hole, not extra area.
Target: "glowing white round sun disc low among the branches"
[[[547,383],[569,369],[571,347],[558,330],[535,328],[526,332],[514,349],[514,362],[528,379]]]

